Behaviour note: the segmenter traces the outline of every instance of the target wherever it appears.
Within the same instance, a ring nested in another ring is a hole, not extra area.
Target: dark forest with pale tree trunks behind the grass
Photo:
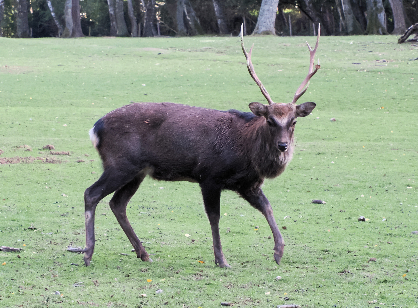
[[[403,34],[417,0],[0,0],[3,37]]]

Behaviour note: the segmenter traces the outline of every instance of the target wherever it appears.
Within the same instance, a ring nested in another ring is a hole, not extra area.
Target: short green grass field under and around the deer
[[[291,101],[306,76],[305,40],[315,38],[245,38],[273,101]],[[88,131],[101,116],[131,101],[265,103],[239,38],[0,38],[0,160],[30,157],[0,165],[0,245],[22,248],[21,258],[0,252],[0,306],[418,307],[418,47],[396,40],[321,38],[321,69],[299,100],[316,109],[298,120],[293,161],[263,187],[285,237],[282,263],[263,216],[225,191],[220,230],[232,268],[221,269],[189,182],[147,178],[128,205],[153,263],[131,252],[111,196],[97,207],[91,266],[66,247],[84,247],[83,192],[102,171]]]

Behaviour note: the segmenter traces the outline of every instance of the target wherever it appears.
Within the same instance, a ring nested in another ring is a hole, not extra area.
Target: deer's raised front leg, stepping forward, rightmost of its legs
[[[263,190],[259,188],[257,192],[241,192],[241,196],[246,199],[253,207],[263,213],[265,219],[270,226],[271,232],[273,232],[274,238],[274,260],[280,265],[280,260],[283,257],[283,250],[285,247],[285,241],[279,231],[276,220],[273,216],[273,209],[268,202],[268,199],[263,194]]]

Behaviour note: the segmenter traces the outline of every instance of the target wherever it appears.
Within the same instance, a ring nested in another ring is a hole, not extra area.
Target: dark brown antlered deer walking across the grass
[[[137,258],[152,262],[126,215],[126,207],[143,179],[150,175],[164,181],[199,184],[204,209],[212,229],[215,265],[230,268],[219,235],[222,190],[237,192],[266,218],[274,238],[274,260],[280,265],[285,242],[273,208],[261,188],[266,178],[279,176],[291,161],[296,119],[311,114],[316,104],[296,101],[307,90],[320,68],[315,48],[308,45],[310,63],[291,103],[274,103],[257,77],[247,53],[241,26],[241,47],[247,69],[268,105],[252,102],[251,112],[219,111],[174,103],[133,103],[99,119],[89,131],[103,165],[99,179],[84,192],[86,246],[68,247],[84,253],[89,266],[94,251],[94,213],[100,200],[114,192],[109,206],[131,242]]]

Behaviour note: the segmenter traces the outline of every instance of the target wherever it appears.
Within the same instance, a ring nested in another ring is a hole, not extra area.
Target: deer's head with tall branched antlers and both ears
[[[270,98],[267,90],[264,88],[263,83],[261,83],[260,79],[258,79],[257,75],[255,74],[254,66],[251,62],[251,53],[254,44],[250,48],[250,52],[247,53],[244,47],[244,38],[241,25],[241,47],[245,58],[247,59],[248,72],[250,73],[252,79],[254,79],[255,83],[257,83],[257,85],[260,87],[261,93],[263,93],[264,97],[268,101],[268,105],[252,102],[248,106],[250,107],[252,113],[256,116],[265,117],[265,125],[268,126],[270,134],[272,135],[275,144],[277,144],[278,149],[283,152],[287,151],[288,146],[293,140],[293,131],[296,125],[296,118],[299,116],[307,116],[311,113],[312,110],[314,110],[316,106],[316,104],[313,102],[306,102],[300,105],[296,105],[296,101],[303,95],[303,93],[306,92],[309,86],[309,79],[311,79],[311,77],[314,76],[318,69],[321,67],[318,61],[318,64],[315,65],[314,70],[314,58],[316,49],[318,48],[320,35],[321,25],[318,25],[318,37],[316,38],[316,45],[313,50],[311,46],[309,46],[308,42],[306,42],[309,48],[309,53],[311,54],[309,71],[305,80],[303,80],[298,90],[296,90],[292,102],[288,104],[274,103]]]

